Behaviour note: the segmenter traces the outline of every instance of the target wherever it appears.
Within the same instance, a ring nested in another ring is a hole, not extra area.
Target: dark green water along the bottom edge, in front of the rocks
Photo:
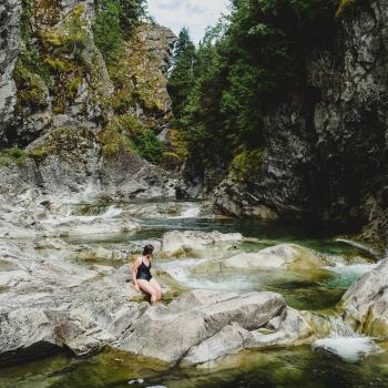
[[[387,344],[380,344],[382,347]],[[169,388],[308,387],[358,388],[388,386],[388,353],[345,361],[309,346],[243,351],[228,356],[218,368],[166,369],[156,363],[105,351],[88,359],[64,355],[0,369],[1,388],[124,388],[162,385]]]

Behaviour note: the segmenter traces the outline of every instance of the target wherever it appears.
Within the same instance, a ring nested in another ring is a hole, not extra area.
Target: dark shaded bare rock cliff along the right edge
[[[304,88],[264,118],[259,176],[224,181],[218,208],[363,225],[387,207],[387,16],[378,0],[338,19],[330,45],[307,59]]]

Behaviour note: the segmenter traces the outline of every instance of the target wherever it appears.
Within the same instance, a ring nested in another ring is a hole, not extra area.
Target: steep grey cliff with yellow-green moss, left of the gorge
[[[143,160],[131,135],[163,140],[169,131],[175,37],[141,24],[106,65],[94,42],[96,11],[93,0],[0,6],[2,192],[21,178],[53,193],[92,185],[119,197],[174,194],[174,177]]]

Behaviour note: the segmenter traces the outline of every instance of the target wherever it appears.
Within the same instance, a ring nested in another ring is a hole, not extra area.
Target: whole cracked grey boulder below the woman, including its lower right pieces
[[[287,312],[283,297],[274,293],[193,290],[169,306],[146,310],[120,349],[167,363],[202,364],[247,347],[286,344],[286,317],[297,315]],[[256,333],[276,317],[276,334]],[[312,334],[300,321],[304,329],[288,325],[287,345],[293,343],[292,336],[299,339]]]

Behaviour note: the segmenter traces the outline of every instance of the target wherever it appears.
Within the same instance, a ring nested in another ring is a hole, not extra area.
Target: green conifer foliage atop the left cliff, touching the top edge
[[[94,41],[108,64],[120,57],[123,40],[144,16],[144,0],[99,0],[93,25]]]

